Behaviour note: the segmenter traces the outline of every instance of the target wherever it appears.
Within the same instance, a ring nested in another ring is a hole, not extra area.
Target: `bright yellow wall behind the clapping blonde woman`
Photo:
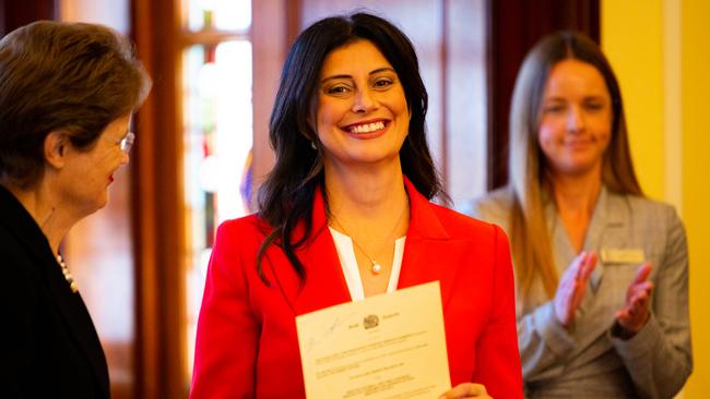
[[[678,4],[681,23],[674,33],[664,25],[664,17],[668,7]],[[678,205],[690,250],[695,363],[684,390],[686,399],[706,398],[710,392],[710,289],[705,287],[710,283],[710,80],[705,72],[710,71],[709,22],[710,2],[706,0],[602,1],[602,47],[620,81],[641,185],[649,196],[664,200],[664,190],[673,183],[666,179],[679,179]],[[668,35],[677,36],[681,44],[677,71],[664,63]],[[668,74],[677,74],[681,82],[678,125],[668,129],[681,132],[678,154],[668,150],[670,140],[664,137],[664,123],[674,118],[673,106],[664,106],[671,92],[664,89]],[[668,176],[666,169],[678,172]]]

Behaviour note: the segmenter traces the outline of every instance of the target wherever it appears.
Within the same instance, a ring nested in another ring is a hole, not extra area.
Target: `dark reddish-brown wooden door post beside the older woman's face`
[[[180,15],[174,0],[132,0],[133,39],[153,78],[132,154],[137,396],[186,398]]]

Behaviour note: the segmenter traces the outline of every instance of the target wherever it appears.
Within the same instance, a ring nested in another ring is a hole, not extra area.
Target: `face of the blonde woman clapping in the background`
[[[567,59],[552,69],[542,104],[540,147],[554,174],[597,172],[612,135],[612,100],[593,65]]]

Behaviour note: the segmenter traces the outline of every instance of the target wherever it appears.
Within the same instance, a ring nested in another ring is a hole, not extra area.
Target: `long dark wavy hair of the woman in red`
[[[257,257],[257,268],[267,283],[261,261],[271,244],[284,251],[301,280],[306,278],[295,250],[310,237],[313,196],[316,188],[323,184],[321,146],[308,120],[315,113],[320,70],[326,57],[334,49],[357,40],[368,40],[382,52],[404,88],[411,120],[407,138],[400,149],[403,173],[427,198],[448,200],[426,141],[428,97],[410,39],[389,21],[368,13],[320,20],[304,31],[291,48],[271,113],[269,137],[276,160],[259,189],[258,197],[259,217],[272,229]],[[294,237],[294,229],[300,222],[305,223],[303,235]]]

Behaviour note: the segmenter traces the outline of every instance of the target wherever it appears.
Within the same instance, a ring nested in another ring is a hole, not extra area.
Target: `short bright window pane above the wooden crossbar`
[[[216,28],[246,32],[251,25],[250,0],[190,0],[190,31]]]

